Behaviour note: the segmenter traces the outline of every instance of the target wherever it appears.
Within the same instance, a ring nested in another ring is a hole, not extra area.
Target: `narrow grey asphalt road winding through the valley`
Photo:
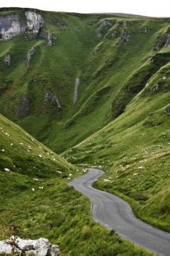
[[[117,234],[140,247],[145,247],[159,255],[170,256],[169,233],[140,221],[134,216],[128,202],[120,197],[91,187],[94,180],[103,174],[102,170],[89,168],[87,174],[69,183],[91,200],[94,221],[101,223],[109,230],[114,229]]]

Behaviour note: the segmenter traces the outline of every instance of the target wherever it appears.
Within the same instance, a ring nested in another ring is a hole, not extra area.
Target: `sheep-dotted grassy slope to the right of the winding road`
[[[96,187],[128,200],[143,220],[170,231],[170,75],[161,67],[125,113],[65,153],[106,171]],[[110,179],[110,182],[104,182]]]

